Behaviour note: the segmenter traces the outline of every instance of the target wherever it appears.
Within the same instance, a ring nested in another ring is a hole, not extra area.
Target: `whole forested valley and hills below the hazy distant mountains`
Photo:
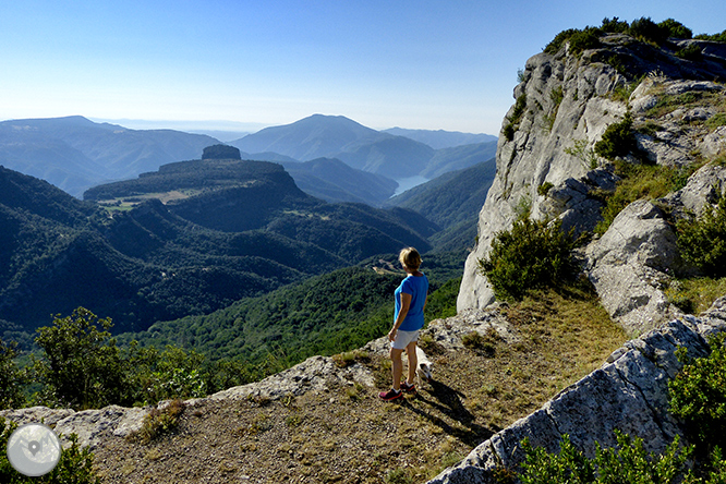
[[[428,319],[452,315],[476,222],[457,207],[483,203],[452,185],[492,167],[447,173],[387,208],[327,203],[280,165],[233,158],[162,166],[86,201],[2,168],[0,336],[23,368],[22,397],[4,404],[201,396],[359,348],[390,325],[408,245],[432,281]],[[73,346],[78,372],[126,391],[72,401],[47,362]]]

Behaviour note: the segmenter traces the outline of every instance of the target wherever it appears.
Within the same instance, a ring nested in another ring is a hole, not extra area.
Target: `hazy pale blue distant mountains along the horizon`
[[[414,135],[416,131],[411,133]],[[437,135],[448,138],[449,145],[459,141],[479,141],[477,135],[463,133],[437,132]],[[161,165],[197,159],[203,148],[218,143],[207,135],[173,130],[130,130],[117,124],[95,123],[80,116],[0,122],[2,166],[47,180],[76,197],[101,183],[133,179],[155,171]],[[434,178],[441,172],[437,167],[445,167],[446,171],[452,162],[445,153],[439,154],[439,150],[410,137],[378,132],[343,117],[322,114],[286,126],[268,128],[230,144],[240,148],[246,159],[286,164],[317,158],[339,159],[353,169],[389,179],[375,179],[373,183],[378,186],[370,190],[377,193],[361,196],[361,193],[341,191],[340,186],[336,190],[323,186],[331,182],[336,184],[329,177],[324,177],[327,170],[318,169],[317,174],[313,174],[310,171],[313,166],[307,167],[307,172],[304,167],[291,169],[293,178],[300,176],[301,184],[329,202],[378,205],[394,194],[396,182],[392,180],[418,174]],[[480,143],[472,148],[488,159],[494,156],[496,142]],[[355,178],[362,179],[361,173]],[[311,181],[322,185],[320,190],[313,189]],[[380,192],[382,185],[389,189]]]

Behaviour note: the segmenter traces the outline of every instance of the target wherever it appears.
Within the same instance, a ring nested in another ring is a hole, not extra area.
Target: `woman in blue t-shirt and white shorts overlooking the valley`
[[[391,372],[394,374],[394,387],[388,391],[378,394],[386,401],[403,397],[403,391],[413,392],[415,387],[413,380],[416,376],[416,341],[419,331],[423,328],[423,311],[428,295],[428,279],[419,270],[421,267],[421,255],[413,247],[403,249],[398,255],[398,261],[408,274],[401,285],[396,289],[396,313],[394,315],[394,327],[388,332],[390,344]],[[408,379],[401,382],[403,362],[401,353],[406,353],[409,360]]]

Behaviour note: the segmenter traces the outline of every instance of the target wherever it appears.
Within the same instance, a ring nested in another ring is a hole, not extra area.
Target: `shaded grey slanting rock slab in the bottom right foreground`
[[[717,300],[699,317],[683,316],[628,341],[608,361],[529,416],[477,446],[458,465],[447,469],[429,484],[494,484],[498,467],[517,468],[524,455],[520,443],[559,451],[562,434],[594,457],[595,441],[616,445],[614,431],[643,439],[645,450],[662,452],[676,435],[683,437],[681,422],[668,413],[668,380],[681,367],[678,347],[699,358],[707,354],[705,338],[726,329],[726,298]],[[681,440],[687,441],[687,440]]]

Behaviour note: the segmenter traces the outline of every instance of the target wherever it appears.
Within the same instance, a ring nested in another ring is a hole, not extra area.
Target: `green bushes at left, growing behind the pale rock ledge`
[[[36,341],[45,351],[33,367],[44,385],[35,396],[39,403],[87,409],[206,395],[202,354],[172,346],[142,348],[136,341],[121,350],[110,327],[110,319],[78,307],[38,329]]]

